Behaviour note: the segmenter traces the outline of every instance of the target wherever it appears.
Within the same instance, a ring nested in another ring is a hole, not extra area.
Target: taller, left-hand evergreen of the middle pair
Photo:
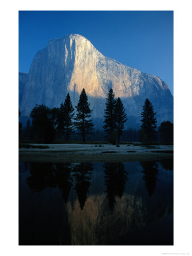
[[[103,125],[104,130],[111,135],[113,131],[116,129],[116,112],[115,112],[115,93],[113,92],[112,88],[108,92],[106,102],[106,109],[105,109],[105,125]]]

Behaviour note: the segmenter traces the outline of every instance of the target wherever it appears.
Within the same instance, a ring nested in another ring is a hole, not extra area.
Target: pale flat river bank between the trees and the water
[[[19,148],[22,162],[134,162],[173,159],[173,145],[31,144],[49,148]]]

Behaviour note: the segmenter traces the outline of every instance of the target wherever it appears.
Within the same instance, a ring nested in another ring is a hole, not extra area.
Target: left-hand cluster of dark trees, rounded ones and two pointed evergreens
[[[81,92],[76,109],[77,113],[74,117],[74,108],[69,93],[64,104],[61,103],[60,108],[50,109],[45,105],[36,105],[30,114],[32,118],[31,130],[35,134],[35,139],[52,142],[57,137],[68,141],[74,129],[77,129],[78,134],[81,134],[82,141],[85,142],[86,136],[93,129],[93,123],[90,119],[92,110],[85,89]]]

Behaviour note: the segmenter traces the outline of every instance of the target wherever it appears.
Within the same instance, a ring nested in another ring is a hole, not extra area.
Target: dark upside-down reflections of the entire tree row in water
[[[148,195],[152,196],[158,180],[158,163],[165,170],[173,170],[173,161],[144,161],[140,162]],[[92,163],[26,163],[26,170],[30,172],[27,184],[32,192],[39,192],[45,188],[59,188],[65,203],[68,201],[72,187],[76,190],[80,208],[83,210],[87,193],[91,185],[91,173],[94,170]],[[103,163],[104,184],[108,204],[111,210],[116,199],[123,196],[128,181],[128,172],[123,163]]]

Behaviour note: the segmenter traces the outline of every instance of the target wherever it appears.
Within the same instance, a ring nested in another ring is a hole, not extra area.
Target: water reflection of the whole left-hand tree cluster
[[[70,189],[73,187],[77,192],[81,210],[84,208],[89,191],[90,174],[93,171],[91,163],[31,163],[30,174],[27,184],[32,192],[40,192],[46,188],[59,188],[64,202],[68,201]],[[73,175],[72,175],[73,172]]]

